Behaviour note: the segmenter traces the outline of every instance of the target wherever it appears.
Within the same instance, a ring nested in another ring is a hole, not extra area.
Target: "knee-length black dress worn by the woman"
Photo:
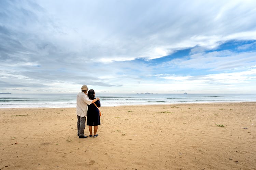
[[[96,98],[94,98],[96,99]],[[97,100],[95,104],[100,107],[100,101]],[[100,125],[100,112],[99,109],[91,103],[88,105],[88,111],[87,111],[87,126],[98,126]]]

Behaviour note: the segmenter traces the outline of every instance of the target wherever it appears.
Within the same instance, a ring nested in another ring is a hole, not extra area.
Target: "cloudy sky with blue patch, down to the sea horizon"
[[[256,93],[254,0],[1,0],[0,92]]]

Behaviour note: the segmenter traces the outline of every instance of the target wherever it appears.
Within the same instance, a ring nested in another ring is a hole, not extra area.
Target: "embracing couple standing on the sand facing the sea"
[[[93,89],[88,91],[88,87],[83,85],[82,91],[76,97],[76,115],[77,115],[77,136],[87,138],[84,135],[85,120],[87,116],[87,126],[89,127],[90,137],[97,137],[98,125],[100,125],[100,99],[95,98]],[[88,91],[88,94],[87,94]],[[94,126],[94,135],[92,129]]]

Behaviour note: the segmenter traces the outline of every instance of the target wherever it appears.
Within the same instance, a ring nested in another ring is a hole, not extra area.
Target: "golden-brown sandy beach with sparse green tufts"
[[[256,169],[256,103],[101,112],[99,136],[79,139],[75,108],[0,109],[0,169]]]

